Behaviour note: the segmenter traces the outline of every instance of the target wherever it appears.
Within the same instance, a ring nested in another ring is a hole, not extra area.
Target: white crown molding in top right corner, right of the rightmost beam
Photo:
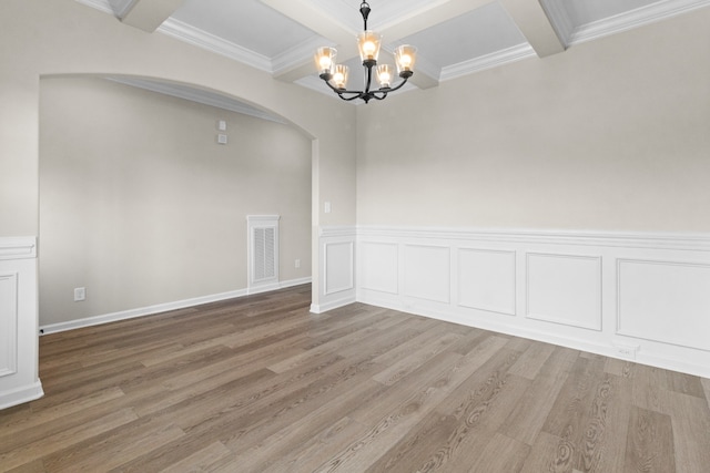
[[[668,0],[653,3],[605,20],[577,27],[569,35],[567,43],[568,45],[572,45],[597,40],[708,6],[710,6],[710,0]]]

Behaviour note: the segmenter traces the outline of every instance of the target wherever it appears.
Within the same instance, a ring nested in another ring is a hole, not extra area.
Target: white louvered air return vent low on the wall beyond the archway
[[[248,292],[278,287],[278,215],[247,215]]]

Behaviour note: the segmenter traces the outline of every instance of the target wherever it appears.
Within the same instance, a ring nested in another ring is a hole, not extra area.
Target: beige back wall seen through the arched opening
[[[247,214],[281,215],[281,280],[311,276],[300,130],[102,79],[40,89],[40,325],[246,288]]]

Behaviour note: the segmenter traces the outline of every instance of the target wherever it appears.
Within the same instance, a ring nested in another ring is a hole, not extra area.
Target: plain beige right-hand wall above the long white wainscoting
[[[710,9],[357,113],[357,223],[710,232]]]

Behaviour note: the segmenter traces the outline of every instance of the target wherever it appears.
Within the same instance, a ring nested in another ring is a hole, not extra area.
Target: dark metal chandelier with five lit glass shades
[[[417,49],[409,44],[403,44],[395,49],[395,63],[397,64],[397,74],[403,81],[396,86],[392,86],[394,70],[389,64],[377,65],[379,55],[379,47],[382,35],[375,31],[367,29],[367,17],[371,9],[366,1],[359,6],[359,12],[363,16],[364,31],[357,35],[357,49],[365,69],[365,90],[348,91],[347,76],[349,68],[345,64],[336,64],[335,58],[337,50],[335,48],[318,48],[315,53],[315,64],[318,75],[328,88],[331,88],[338,96],[345,101],[362,99],[368,103],[372,99],[383,100],[389,92],[402,89],[407,80],[414,74],[414,62],[416,60]],[[371,89],[373,85],[373,69],[379,82],[379,89]]]

